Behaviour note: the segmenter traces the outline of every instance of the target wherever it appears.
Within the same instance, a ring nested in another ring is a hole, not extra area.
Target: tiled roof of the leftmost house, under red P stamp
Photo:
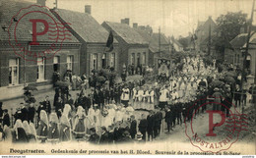
[[[33,6],[32,6],[33,5]],[[36,6],[35,6],[36,5]],[[26,15],[27,14],[27,15]],[[56,28],[56,24],[60,25],[60,21],[58,21],[57,18],[55,18],[52,13],[49,11],[49,9],[45,7],[41,7],[37,4],[33,4],[30,2],[20,2],[20,1],[13,1],[13,0],[2,0],[1,6],[0,6],[0,40],[9,40],[9,34],[8,34],[8,28],[10,32],[10,39],[15,40],[15,37],[17,37],[18,41],[32,41],[32,22],[30,23],[30,20],[32,19],[39,19],[44,20],[49,25],[49,30],[45,34],[37,35],[36,41],[43,41],[43,42],[52,42],[53,40],[50,39],[50,37],[54,38],[56,36],[50,36],[49,34],[54,32],[58,32],[55,34],[61,34],[63,33],[58,31],[59,29]],[[15,20],[13,20],[13,17],[15,17]],[[52,25],[51,25],[52,24]],[[4,30],[2,27],[7,27],[6,30]],[[16,27],[16,35],[14,35],[14,28]],[[66,30],[66,28],[64,27]],[[36,32],[42,32],[45,30],[45,26],[42,23],[36,23]],[[76,39],[75,36],[73,36],[71,33],[64,31],[64,34],[61,34],[58,36],[58,40],[55,42],[60,42],[60,38],[63,39],[63,36],[67,37],[65,40],[63,40],[63,43],[78,43],[79,41]],[[69,34],[69,35],[67,35]]]

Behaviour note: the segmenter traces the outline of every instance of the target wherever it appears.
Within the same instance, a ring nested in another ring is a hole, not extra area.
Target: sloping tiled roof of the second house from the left
[[[100,26],[90,14],[64,9],[54,9],[54,11],[65,23],[69,23],[69,26],[86,42],[105,43],[107,41],[108,31]],[[114,43],[117,43],[115,39]]]

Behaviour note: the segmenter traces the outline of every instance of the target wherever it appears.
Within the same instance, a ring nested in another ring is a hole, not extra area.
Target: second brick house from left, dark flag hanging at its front
[[[118,42],[114,39],[111,52],[105,47],[109,33],[91,15],[91,6],[85,6],[85,13],[54,9],[69,31],[82,43],[80,52],[80,75],[89,75],[92,70],[106,67],[118,68]]]

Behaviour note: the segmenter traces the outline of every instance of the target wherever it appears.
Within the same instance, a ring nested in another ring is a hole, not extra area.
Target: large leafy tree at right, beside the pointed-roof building
[[[240,33],[240,28],[246,25],[247,14],[242,12],[228,12],[217,18],[216,34],[213,40],[215,48],[220,53],[224,53],[224,48],[229,47],[229,41]]]

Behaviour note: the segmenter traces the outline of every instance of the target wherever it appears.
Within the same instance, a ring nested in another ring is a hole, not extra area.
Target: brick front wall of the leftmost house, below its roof
[[[1,43],[0,43],[1,44]],[[25,44],[26,45],[26,44]],[[28,48],[28,45],[26,45]],[[47,46],[32,47],[32,51],[45,50]],[[56,55],[60,56],[60,73],[63,77],[66,72],[67,55],[74,56],[74,73],[79,73],[79,45],[63,46],[61,51]],[[45,80],[36,81],[37,63],[34,61],[25,61],[19,58],[19,83],[17,85],[9,85],[9,59],[18,58],[12,47],[8,44],[0,47],[0,100],[10,99],[23,95],[24,82],[36,85],[37,89],[51,88],[51,80],[53,74],[53,58],[47,59],[44,65]],[[4,92],[4,94],[3,94]]]

